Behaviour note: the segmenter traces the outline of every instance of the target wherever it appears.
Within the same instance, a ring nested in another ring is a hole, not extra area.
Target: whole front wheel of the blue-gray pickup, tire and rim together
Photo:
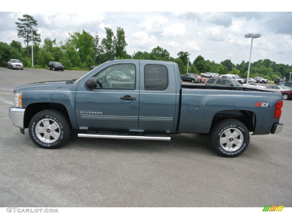
[[[67,117],[54,109],[38,112],[29,122],[29,136],[41,148],[61,147],[68,140],[70,131]]]

